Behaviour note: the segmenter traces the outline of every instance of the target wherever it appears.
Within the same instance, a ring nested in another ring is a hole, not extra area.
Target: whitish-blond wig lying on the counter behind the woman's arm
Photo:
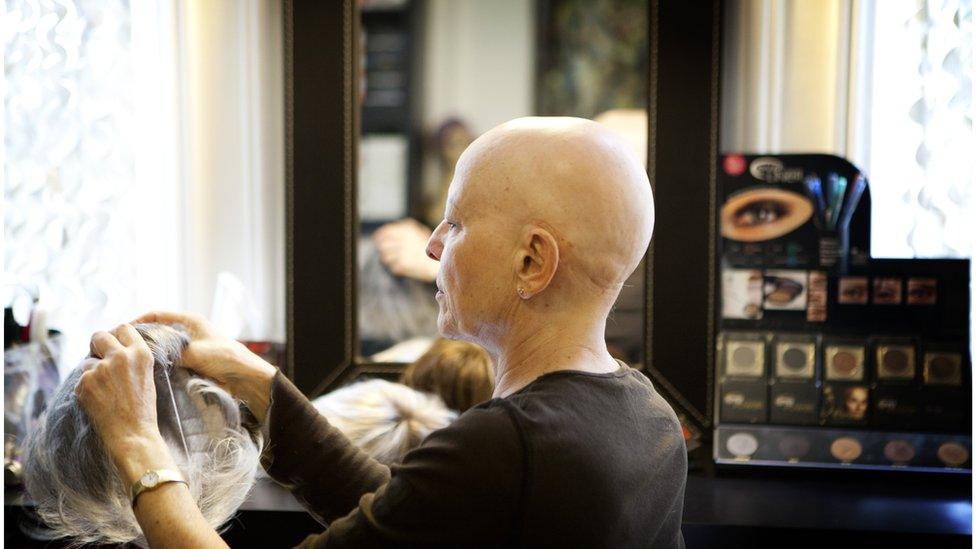
[[[437,396],[383,379],[348,385],[312,404],[353,444],[387,465],[399,463],[457,418]]]

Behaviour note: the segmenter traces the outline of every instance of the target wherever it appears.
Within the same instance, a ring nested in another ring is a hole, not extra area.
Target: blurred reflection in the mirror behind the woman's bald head
[[[437,337],[438,264],[426,242],[479,135],[521,116],[593,118],[646,162],[647,3],[361,4],[359,351],[412,362]],[[608,321],[608,347],[638,364],[643,331],[641,264]]]

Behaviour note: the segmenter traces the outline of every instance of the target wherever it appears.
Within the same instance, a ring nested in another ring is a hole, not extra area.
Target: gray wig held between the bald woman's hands
[[[185,333],[161,324],[135,328],[154,358],[159,430],[203,516],[219,528],[254,482],[260,434],[242,425],[239,403],[227,392],[177,367],[189,342]],[[81,374],[77,368],[65,379],[28,436],[27,492],[49,529],[45,534],[77,544],[144,545],[129,486],[75,396]]]

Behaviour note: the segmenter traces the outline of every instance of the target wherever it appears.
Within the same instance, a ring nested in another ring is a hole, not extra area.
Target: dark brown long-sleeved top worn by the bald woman
[[[325,533],[301,547],[683,547],[687,460],[640,372],[553,372],[435,431],[392,469],[282,374],[262,464]]]

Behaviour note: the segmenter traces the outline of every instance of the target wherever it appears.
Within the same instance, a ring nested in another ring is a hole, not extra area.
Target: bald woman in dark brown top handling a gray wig
[[[491,355],[488,402],[391,469],[353,447],[277,370],[201,318],[184,364],[266,424],[262,464],[329,529],[304,546],[683,546],[686,475],[674,412],[607,351],[606,319],[651,238],[640,161],[601,125],[513,120],[462,155],[428,255],[438,329]],[[104,359],[79,397],[125,479],[171,465],[155,432],[148,353],[128,325],[92,338]],[[151,546],[219,545],[180,483],[135,512]]]

